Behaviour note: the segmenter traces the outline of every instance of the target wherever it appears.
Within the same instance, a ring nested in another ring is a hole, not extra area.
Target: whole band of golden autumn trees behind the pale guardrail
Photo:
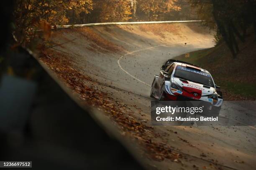
[[[154,21],[181,7],[178,0],[17,0],[13,12],[14,35],[25,45],[44,31],[50,37],[50,26],[101,22]]]

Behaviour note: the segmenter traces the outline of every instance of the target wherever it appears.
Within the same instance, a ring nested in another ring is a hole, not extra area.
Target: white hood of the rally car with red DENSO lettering
[[[182,87],[182,89],[186,90],[197,90],[202,92],[202,95],[210,95],[212,93],[214,93],[216,90],[213,87],[209,87],[209,86],[204,86],[200,83],[196,83],[196,82],[191,82],[191,81],[182,81],[182,79],[174,77],[173,78],[174,82],[176,82],[180,87]]]

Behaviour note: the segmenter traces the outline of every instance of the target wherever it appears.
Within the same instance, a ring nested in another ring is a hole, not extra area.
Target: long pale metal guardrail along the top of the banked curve
[[[189,21],[146,21],[146,22],[120,22],[120,23],[91,23],[80,25],[57,25],[56,28],[74,28],[74,27],[86,27],[95,25],[128,25],[128,24],[160,24],[160,23],[199,23],[202,20],[189,20]],[[54,27],[53,27],[54,28]]]

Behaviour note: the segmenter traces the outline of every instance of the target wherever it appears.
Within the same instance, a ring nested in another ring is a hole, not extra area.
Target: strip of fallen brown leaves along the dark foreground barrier
[[[83,75],[72,66],[72,61],[62,53],[44,50],[41,60],[51,68],[60,79],[67,83],[75,93],[79,94],[81,101],[85,105],[97,107],[98,110],[105,112],[112,118],[120,128],[122,135],[128,135],[136,140],[146,152],[147,156],[157,161],[169,159],[179,163],[182,155],[173,153],[171,148],[165,143],[157,142],[155,138],[161,139],[158,133],[154,133],[154,128],[145,125],[144,122],[137,120],[132,106],[128,106],[118,100],[113,99],[111,94],[99,90],[101,84]],[[103,86],[104,87],[104,86]]]

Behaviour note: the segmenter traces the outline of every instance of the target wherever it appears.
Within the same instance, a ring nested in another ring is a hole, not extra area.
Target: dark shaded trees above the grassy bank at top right
[[[204,20],[204,25],[215,28],[215,40],[225,41],[233,57],[241,52],[241,44],[254,35],[256,40],[255,0],[189,0]]]

